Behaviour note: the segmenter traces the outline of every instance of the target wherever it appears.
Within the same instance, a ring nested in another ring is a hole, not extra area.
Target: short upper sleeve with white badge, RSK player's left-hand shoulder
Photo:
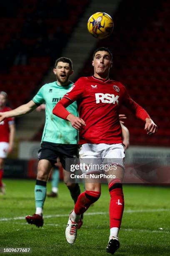
[[[79,78],[75,84],[72,85],[70,90],[66,92],[66,94],[63,96],[63,98],[67,98],[68,100],[71,100],[74,102],[75,100],[82,98],[83,93],[84,93],[84,81],[81,78]]]

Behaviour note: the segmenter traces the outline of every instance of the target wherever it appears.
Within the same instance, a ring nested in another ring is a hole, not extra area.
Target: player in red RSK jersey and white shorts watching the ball
[[[108,163],[110,159],[112,169],[107,173],[112,174],[107,179],[110,192],[110,237],[107,252],[113,254],[120,246],[118,233],[124,210],[122,181],[125,153],[119,121],[120,105],[125,105],[137,118],[145,122],[148,135],[156,133],[157,125],[148,113],[132,100],[123,84],[109,78],[109,70],[112,67],[112,53],[109,49],[101,47],[95,50],[92,66],[94,75],[80,77],[57,103],[53,114],[70,121],[72,127],[80,130],[80,162],[93,159],[94,164],[97,159],[102,159],[102,163]],[[67,106],[75,100],[77,100],[79,117],[75,117],[66,110]],[[94,173],[93,170],[85,170],[86,175],[91,173]],[[85,192],[79,195],[67,223],[65,235],[67,242],[71,244],[76,239],[80,215],[100,197],[100,182],[89,182],[85,179],[85,189]]]

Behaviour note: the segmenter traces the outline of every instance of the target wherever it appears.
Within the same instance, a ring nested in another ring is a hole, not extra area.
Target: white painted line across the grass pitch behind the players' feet
[[[147,210],[125,210],[124,213],[135,213],[135,212],[170,212],[170,209],[147,209]],[[85,215],[106,215],[108,212],[87,212]],[[69,214],[55,214],[55,215],[46,215],[47,218],[59,218],[59,217],[68,217]],[[1,218],[0,221],[8,221],[8,220],[24,220],[25,217],[14,217],[14,218]]]

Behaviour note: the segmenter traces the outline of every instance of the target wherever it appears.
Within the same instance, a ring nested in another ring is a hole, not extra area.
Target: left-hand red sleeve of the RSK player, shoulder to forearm
[[[79,78],[77,82],[72,85],[70,90],[63,96],[63,98],[55,105],[52,110],[52,113],[54,115],[57,115],[58,117],[66,120],[67,115],[70,114],[70,112],[68,112],[66,108],[72,102],[74,102],[78,98],[81,98],[83,95],[84,83],[82,80],[82,78]]]

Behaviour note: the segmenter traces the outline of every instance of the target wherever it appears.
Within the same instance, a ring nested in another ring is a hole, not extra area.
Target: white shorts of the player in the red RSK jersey
[[[106,165],[117,165],[125,169],[125,151],[122,144],[85,143],[79,150],[80,164],[83,174],[102,173]],[[88,166],[86,166],[88,165]]]

